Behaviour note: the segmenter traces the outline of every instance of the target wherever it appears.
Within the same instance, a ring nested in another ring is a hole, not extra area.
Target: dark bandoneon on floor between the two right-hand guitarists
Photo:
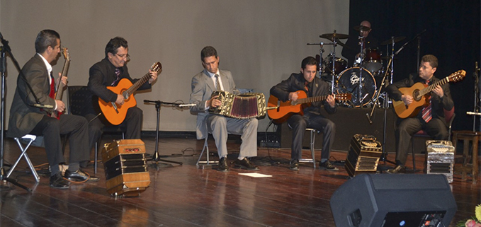
[[[344,168],[351,177],[361,173],[375,173],[382,153],[381,143],[374,136],[355,134],[351,139]]]

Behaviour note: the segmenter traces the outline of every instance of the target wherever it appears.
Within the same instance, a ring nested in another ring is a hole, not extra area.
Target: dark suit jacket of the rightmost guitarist
[[[429,81],[429,85],[436,83],[439,81],[438,78],[433,76],[431,81]],[[409,75],[408,78],[404,78],[401,81],[397,81],[396,83],[392,83],[390,86],[387,86],[386,91],[389,94],[390,98],[399,101],[401,100],[402,93],[399,91],[399,88],[409,88],[414,85],[414,83],[425,83],[423,78],[419,76],[413,76],[412,74]],[[451,98],[451,91],[449,90],[449,83],[443,84],[441,86],[443,88],[443,98],[440,98],[434,92],[431,92],[431,115],[433,118],[439,118],[448,126],[444,118],[444,109],[451,110],[454,107],[453,98]],[[417,117],[421,117],[422,111],[419,111]],[[398,123],[403,120],[402,118],[398,119]]]

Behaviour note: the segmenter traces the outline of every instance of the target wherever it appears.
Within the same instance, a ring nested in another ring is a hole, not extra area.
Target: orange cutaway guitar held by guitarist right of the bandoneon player
[[[295,101],[281,101],[276,96],[271,95],[267,102],[267,115],[276,124],[281,124],[288,120],[294,114],[303,115],[302,111],[305,105],[310,105],[312,102],[319,102],[327,99],[327,95],[315,96],[307,98],[305,91],[299,90],[298,100]],[[351,93],[342,93],[334,95],[334,99],[338,101],[351,100]]]

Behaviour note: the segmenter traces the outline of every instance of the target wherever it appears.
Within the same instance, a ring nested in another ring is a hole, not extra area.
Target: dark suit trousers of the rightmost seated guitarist
[[[422,120],[420,117],[409,117],[401,120],[397,126],[397,129],[395,130],[397,165],[406,164],[411,138],[421,129],[431,136],[432,139],[448,139],[448,129],[443,120],[433,118],[428,123],[424,122],[424,120]]]

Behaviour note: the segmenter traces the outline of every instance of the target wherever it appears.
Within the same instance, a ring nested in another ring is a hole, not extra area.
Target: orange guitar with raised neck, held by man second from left
[[[160,72],[162,71],[162,64],[160,62],[154,63],[151,67],[152,71]],[[123,78],[118,81],[117,86],[111,87],[108,86],[107,89],[113,91],[113,93],[122,95],[124,98],[123,105],[117,105],[115,102],[106,102],[101,98],[98,98],[98,105],[100,105],[100,109],[103,115],[106,117],[108,122],[113,125],[118,125],[125,120],[125,116],[127,115],[127,110],[130,107],[134,107],[137,105],[137,101],[134,98],[133,93],[137,91],[142,84],[147,82],[150,78],[150,74],[147,73],[142,78],[140,78],[137,82],[132,84],[128,78]]]

